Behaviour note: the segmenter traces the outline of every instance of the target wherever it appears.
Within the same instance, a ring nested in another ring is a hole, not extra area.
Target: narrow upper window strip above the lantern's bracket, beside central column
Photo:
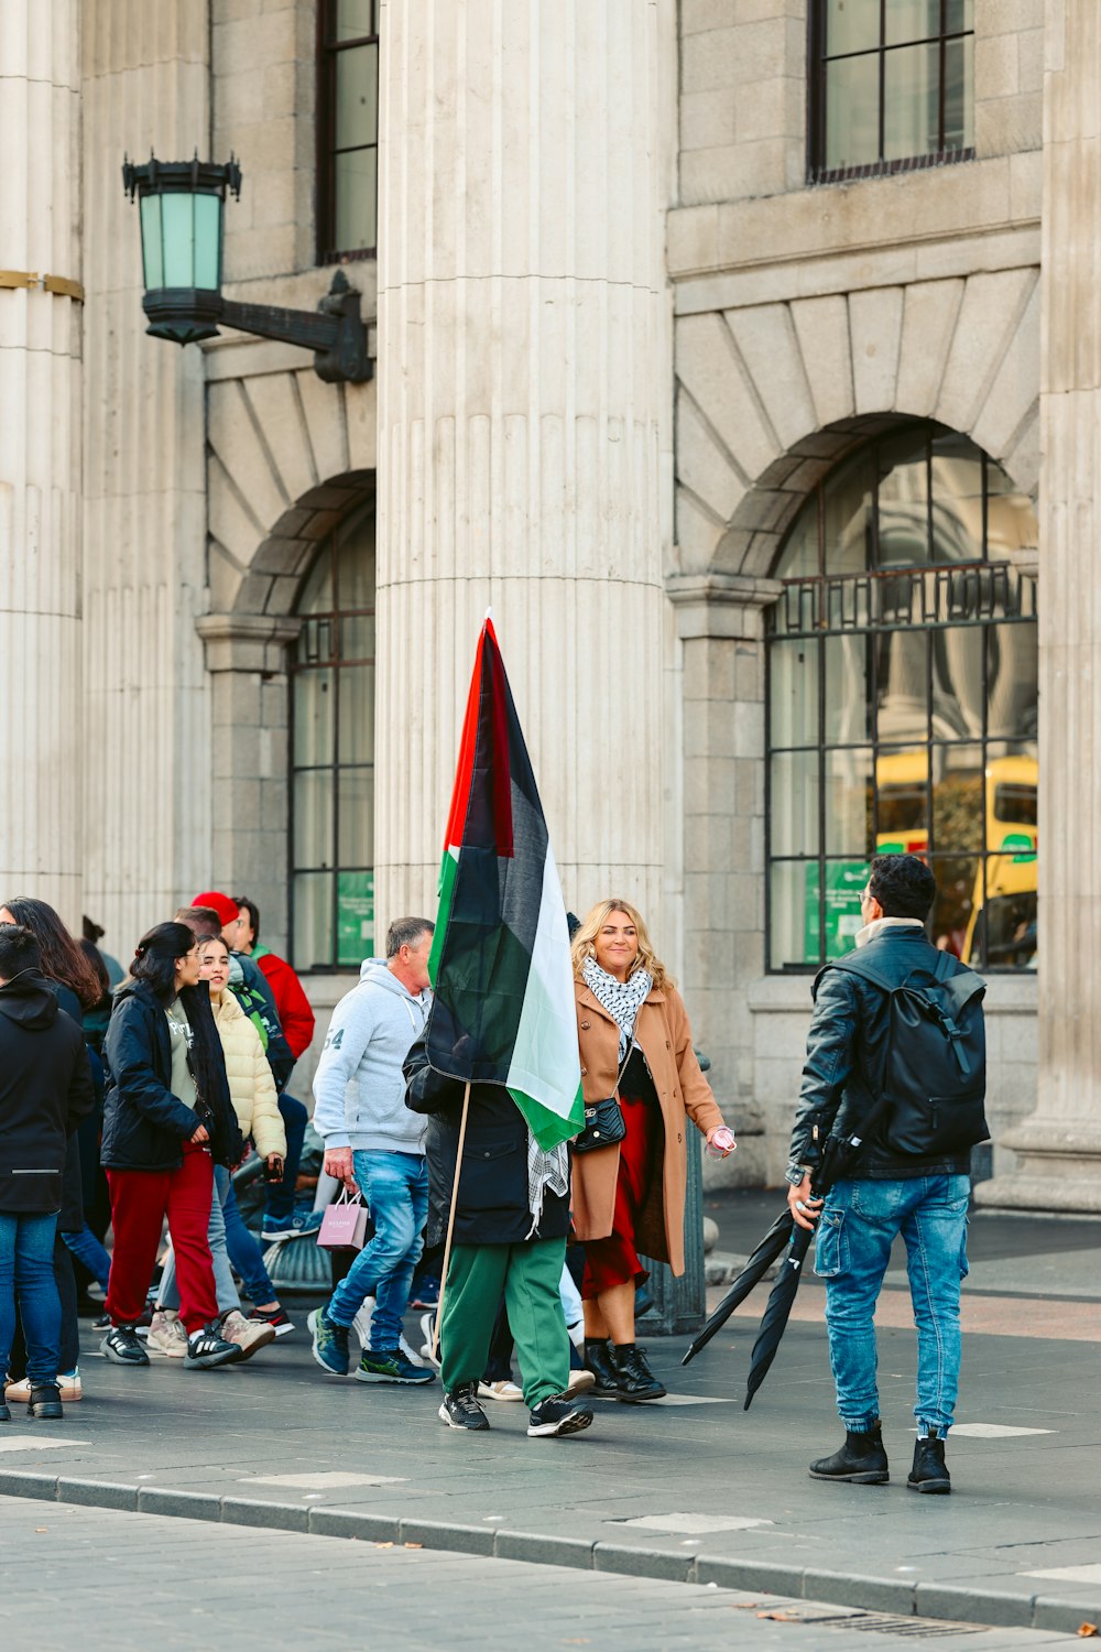
[[[368,258],[378,244],[380,0],[320,0],[317,12],[317,258]]]

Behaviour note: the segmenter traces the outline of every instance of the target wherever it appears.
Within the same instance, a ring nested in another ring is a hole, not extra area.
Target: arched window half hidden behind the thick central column
[[[299,596],[291,671],[291,947],[358,968],[375,938],[375,506],[328,535]]]

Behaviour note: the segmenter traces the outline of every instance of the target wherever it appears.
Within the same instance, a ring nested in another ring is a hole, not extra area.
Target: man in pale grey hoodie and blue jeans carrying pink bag
[[[386,961],[368,958],[360,983],[333,1009],[314,1077],[314,1125],[325,1170],[366,1199],[375,1237],[360,1251],[324,1308],[309,1317],[314,1358],[348,1374],[348,1332],[375,1297],[371,1346],[360,1383],[431,1383],[434,1373],[401,1353],[401,1318],[421,1256],[428,1214],[423,1122],[404,1105],[401,1066],[424,1031],[432,923],[399,919],[386,935]]]

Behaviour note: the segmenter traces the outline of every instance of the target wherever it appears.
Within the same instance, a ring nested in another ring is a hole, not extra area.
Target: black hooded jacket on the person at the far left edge
[[[61,1206],[66,1140],[92,1104],[84,1034],[51,983],[28,970],[0,986],[0,1211]]]

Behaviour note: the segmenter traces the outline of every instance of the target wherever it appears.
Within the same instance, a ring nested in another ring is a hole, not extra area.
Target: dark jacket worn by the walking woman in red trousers
[[[205,988],[206,983],[200,986]],[[210,1128],[211,1120],[200,1118],[172,1094],[172,1041],[165,1006],[145,981],[130,981],[116,993],[104,1056],[107,1095],[102,1165],[107,1170],[178,1170],[183,1163],[183,1143],[201,1123]],[[236,1165],[243,1146],[224,1061],[218,1080],[218,1094],[208,1097],[213,1112],[211,1153],[220,1165]]]

